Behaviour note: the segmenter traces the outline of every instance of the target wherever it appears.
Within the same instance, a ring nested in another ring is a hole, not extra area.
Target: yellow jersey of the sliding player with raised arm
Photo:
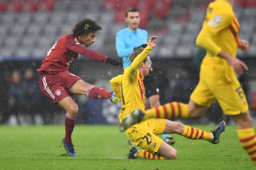
[[[121,123],[125,116],[134,109],[145,110],[145,86],[143,75],[138,70],[141,62],[152,50],[147,46],[132,62],[130,67],[124,69],[124,74],[118,75],[110,80],[112,89],[119,100],[122,101],[122,109],[119,115]]]

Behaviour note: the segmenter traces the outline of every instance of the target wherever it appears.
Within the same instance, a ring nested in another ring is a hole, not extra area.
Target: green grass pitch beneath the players
[[[193,125],[205,131],[209,125]],[[126,159],[130,145],[113,125],[76,125],[72,134],[78,157],[68,157],[63,146],[64,125],[0,126],[0,170],[5,169],[253,169],[242,149],[235,126],[227,126],[220,143],[172,135],[176,160]],[[138,148],[139,149],[139,148]]]

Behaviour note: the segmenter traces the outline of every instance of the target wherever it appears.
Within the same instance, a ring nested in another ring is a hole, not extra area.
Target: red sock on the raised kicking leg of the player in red
[[[90,86],[86,91],[86,96],[93,99],[109,99],[111,92],[100,87]]]

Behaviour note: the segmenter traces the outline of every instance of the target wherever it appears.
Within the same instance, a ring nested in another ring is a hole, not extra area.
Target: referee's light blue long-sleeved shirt
[[[148,44],[148,32],[140,28],[132,32],[128,27],[116,33],[116,51],[123,60],[123,68],[129,67],[131,61],[129,55],[133,53],[133,48]]]

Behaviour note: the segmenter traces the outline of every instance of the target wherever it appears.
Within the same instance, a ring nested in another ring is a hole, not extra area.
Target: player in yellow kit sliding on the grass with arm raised
[[[143,79],[144,76],[148,75],[148,71],[151,68],[148,55],[151,49],[156,46],[156,38],[158,37],[152,36],[145,49],[142,47],[135,49],[129,56],[132,61],[131,66],[124,69],[124,74],[110,80],[112,89],[118,99],[122,101],[122,109],[119,115],[120,123],[132,110],[145,110],[146,89]],[[138,151],[132,146],[127,158],[175,159],[177,151],[156,135],[176,133],[189,139],[203,139],[216,144],[219,143],[220,133],[225,130],[224,121],[222,121],[219,129],[219,131],[208,133],[167,119],[147,119],[126,129],[127,137],[135,145],[144,149],[143,151]]]

